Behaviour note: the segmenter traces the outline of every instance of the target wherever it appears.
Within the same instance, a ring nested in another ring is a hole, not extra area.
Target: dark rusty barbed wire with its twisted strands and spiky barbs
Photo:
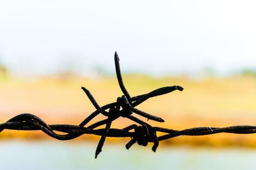
[[[129,92],[125,89],[122,75],[120,71],[119,59],[118,55],[115,52],[115,68],[116,68],[116,76],[118,79],[118,83],[120,89],[124,93],[122,97],[118,97],[115,103],[106,104],[105,106],[100,107],[99,104],[95,101],[92,94],[89,90],[82,87],[83,91],[86,93],[93,106],[96,108],[91,115],[81,122],[79,125],[67,125],[67,124],[57,124],[57,125],[48,125],[36,115],[32,115],[30,113],[23,113],[17,115],[6,123],[0,124],[0,132],[4,129],[13,129],[13,130],[23,130],[23,131],[36,131],[40,130],[45,132],[45,134],[51,136],[52,138],[59,140],[70,140],[77,138],[83,134],[95,134],[101,136],[99,144],[97,146],[95,152],[95,158],[102,151],[102,146],[104,145],[104,141],[106,137],[116,137],[116,138],[125,138],[130,137],[131,141],[129,141],[125,147],[127,150],[134,144],[138,143],[138,145],[147,146],[148,142],[154,143],[152,146],[152,150],[156,152],[157,146],[159,145],[159,141],[163,141],[166,139],[174,138],[177,136],[202,136],[208,134],[216,134],[220,132],[234,133],[234,134],[252,134],[256,133],[256,126],[252,125],[237,125],[230,127],[194,127],[191,129],[184,129],[182,131],[177,131],[173,129],[166,129],[163,127],[152,127],[150,124],[140,120],[137,117],[134,117],[132,113],[136,113],[141,115],[142,117],[155,120],[157,122],[164,122],[164,120],[160,117],[150,115],[144,111],[138,110],[134,107],[143,103],[147,99],[151,97],[160,96],[163,94],[168,94],[173,92],[174,90],[182,91],[183,88],[179,85],[171,86],[171,87],[162,87],[160,89],[153,90],[148,94],[142,94],[139,96],[131,97]],[[106,111],[108,110],[109,111]],[[88,127],[84,127],[90,120],[99,115],[106,116],[107,118],[104,120],[100,120],[95,124],[89,125]],[[111,123],[119,117],[125,117],[133,122],[136,122],[139,125],[132,124],[124,129],[113,129],[111,128]],[[96,129],[100,125],[106,125],[104,129]],[[67,134],[58,134],[57,132],[65,132]],[[165,132],[166,134],[163,136],[157,136],[157,132]]]

